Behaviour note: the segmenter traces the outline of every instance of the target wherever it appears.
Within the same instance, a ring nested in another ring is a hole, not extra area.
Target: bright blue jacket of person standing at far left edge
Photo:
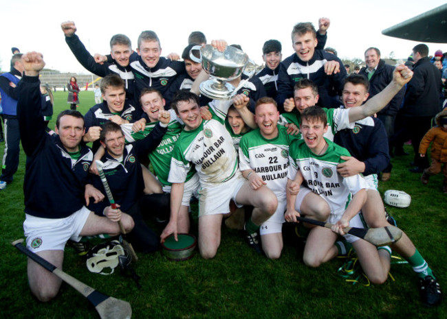
[[[1,94],[1,107],[3,108],[3,115],[15,117],[17,115],[17,99],[19,99],[17,87],[10,86],[10,82],[14,84],[19,83],[21,73],[12,68],[9,73],[3,73],[0,75],[0,94]]]

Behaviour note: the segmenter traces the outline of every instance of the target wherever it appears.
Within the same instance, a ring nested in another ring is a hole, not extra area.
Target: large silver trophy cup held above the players
[[[204,45],[201,51],[201,65],[211,75],[210,80],[200,84],[200,92],[211,99],[231,99],[237,89],[227,81],[239,77],[249,62],[247,54],[235,47],[226,47],[221,52]]]

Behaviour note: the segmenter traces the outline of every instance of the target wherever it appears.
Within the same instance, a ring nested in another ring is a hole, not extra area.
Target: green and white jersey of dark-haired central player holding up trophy
[[[169,182],[184,182],[191,166],[195,167],[201,187],[215,186],[238,172],[237,152],[225,128],[232,100],[213,100],[208,104],[212,119],[202,120],[192,131],[183,130],[175,144]]]

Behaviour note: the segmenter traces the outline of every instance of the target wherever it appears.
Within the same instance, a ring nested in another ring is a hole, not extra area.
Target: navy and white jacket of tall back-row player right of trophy
[[[334,75],[326,75],[324,64],[335,60],[340,64],[340,72]],[[321,49],[315,49],[314,56],[304,62],[296,53],[283,60],[278,73],[278,95],[276,102],[281,107],[285,99],[294,96],[294,85],[303,78],[312,80],[318,86],[318,105],[325,108],[338,108],[343,90],[343,80],[347,76],[343,62]]]

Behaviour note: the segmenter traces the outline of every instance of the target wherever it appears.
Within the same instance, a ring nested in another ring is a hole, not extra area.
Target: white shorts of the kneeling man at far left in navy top
[[[41,218],[25,214],[23,231],[27,248],[32,252],[64,250],[68,239],[80,241],[79,234],[89,215],[90,211],[85,206],[65,218]]]

